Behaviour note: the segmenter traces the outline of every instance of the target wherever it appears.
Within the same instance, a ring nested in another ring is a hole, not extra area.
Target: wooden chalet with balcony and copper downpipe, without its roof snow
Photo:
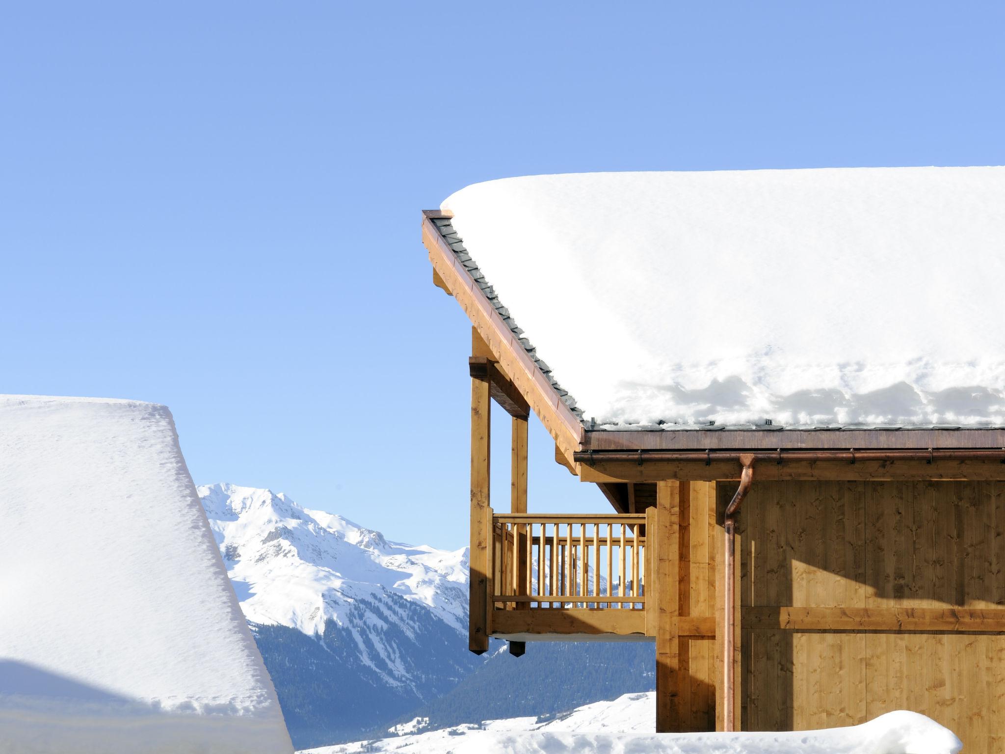
[[[909,709],[968,754],[1005,748],[1005,428],[600,426],[449,211],[423,213],[422,240],[472,326],[471,651],[489,637],[514,654],[534,639],[654,641],[661,732]],[[489,500],[492,400],[512,417],[509,503]],[[528,447],[532,411],[609,514],[528,510],[528,453],[545,451]]]

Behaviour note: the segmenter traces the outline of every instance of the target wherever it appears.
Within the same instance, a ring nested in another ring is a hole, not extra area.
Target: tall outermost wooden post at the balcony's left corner
[[[467,648],[488,650],[488,530],[491,399],[488,379],[471,378],[471,551]]]

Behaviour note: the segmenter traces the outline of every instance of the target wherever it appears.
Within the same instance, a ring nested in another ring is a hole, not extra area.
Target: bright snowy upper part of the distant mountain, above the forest
[[[199,497],[249,621],[321,633],[359,599],[396,594],[465,630],[467,548],[389,542],[269,490],[206,485]]]

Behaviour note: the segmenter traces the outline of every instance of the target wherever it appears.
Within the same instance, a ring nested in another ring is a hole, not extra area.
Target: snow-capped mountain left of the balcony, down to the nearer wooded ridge
[[[294,742],[358,735],[480,664],[466,650],[466,548],[390,542],[269,490],[198,491]]]

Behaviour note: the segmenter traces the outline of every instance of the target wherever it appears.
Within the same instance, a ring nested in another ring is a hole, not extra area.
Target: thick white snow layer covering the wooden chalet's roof
[[[587,419],[1005,424],[1005,168],[532,176],[442,207]]]

